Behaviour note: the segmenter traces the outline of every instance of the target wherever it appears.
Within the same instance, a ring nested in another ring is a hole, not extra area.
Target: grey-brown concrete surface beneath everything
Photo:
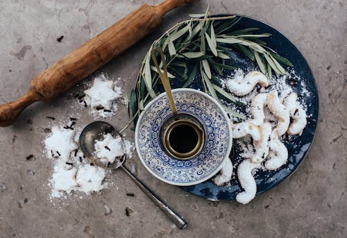
[[[33,76],[142,3],[0,0],[0,103],[22,96]],[[175,228],[121,171],[109,176],[115,185],[101,194],[54,205],[48,199],[51,162],[42,155],[43,128],[51,122],[48,115],[59,120],[80,113],[78,124],[92,121],[83,108],[69,107],[76,104],[73,95],[84,90],[80,85],[52,103],[36,103],[15,125],[0,128],[0,237],[347,236],[346,1],[198,1],[169,13],[158,31],[100,71],[121,78],[128,93],[151,42],[188,13],[203,12],[208,3],[212,13],[237,12],[269,22],[301,49],[312,67],[319,122],[312,149],[298,171],[249,205],[240,205],[187,194],[153,178],[133,159],[139,178],[188,221],[185,230]],[[64,38],[59,43],[60,35]],[[124,124],[121,115],[112,123]],[[130,130],[127,134],[133,137]],[[29,154],[35,160],[27,161]],[[112,209],[111,215],[104,215],[104,205]]]

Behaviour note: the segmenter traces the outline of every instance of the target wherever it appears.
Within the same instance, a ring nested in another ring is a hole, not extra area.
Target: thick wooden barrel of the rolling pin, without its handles
[[[49,101],[138,42],[159,24],[160,18],[153,6],[145,4],[37,75],[31,81],[31,87],[44,101]]]

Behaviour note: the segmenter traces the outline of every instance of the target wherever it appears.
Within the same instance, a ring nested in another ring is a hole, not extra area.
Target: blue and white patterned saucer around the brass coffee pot
[[[189,160],[171,157],[160,143],[160,128],[172,117],[166,93],[151,101],[139,116],[135,130],[137,154],[156,178],[172,185],[196,185],[214,176],[232,146],[230,119],[208,94],[192,89],[172,90],[178,113],[195,117],[205,130],[202,150]]]

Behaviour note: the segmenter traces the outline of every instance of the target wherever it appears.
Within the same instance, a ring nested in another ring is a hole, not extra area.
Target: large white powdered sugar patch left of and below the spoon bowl
[[[51,198],[67,198],[72,191],[90,194],[107,187],[103,182],[106,170],[93,166],[85,158],[74,137],[74,130],[54,126],[51,135],[44,140],[45,154],[53,160],[53,174],[49,180]],[[125,139],[123,146],[122,153],[131,158],[134,144]]]

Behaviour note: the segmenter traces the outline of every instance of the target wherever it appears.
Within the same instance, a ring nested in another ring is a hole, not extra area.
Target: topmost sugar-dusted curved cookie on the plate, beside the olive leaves
[[[245,96],[249,94],[257,84],[267,87],[269,86],[269,79],[259,71],[251,71],[242,79],[228,80],[226,82],[226,88],[237,96]]]

